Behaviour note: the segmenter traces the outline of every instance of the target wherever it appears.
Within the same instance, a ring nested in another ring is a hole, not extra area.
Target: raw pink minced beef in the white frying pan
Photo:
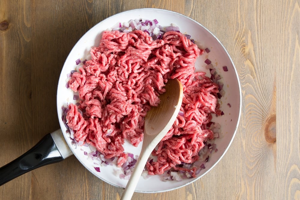
[[[162,174],[180,170],[176,165],[182,162],[196,161],[203,142],[213,138],[206,128],[211,113],[220,114],[218,85],[205,73],[194,73],[196,58],[203,52],[176,31],[158,40],[140,30],[104,31],[99,46],[91,49],[91,60],[68,82],[80,97],[80,105],[70,104],[67,112],[75,139],[95,146],[106,158],[119,157],[122,166],[125,139],[134,146],[143,140],[147,111],[159,104],[167,80],[177,78],[184,86],[184,115],[178,115],[153,151],[158,160],[146,167],[149,174]]]

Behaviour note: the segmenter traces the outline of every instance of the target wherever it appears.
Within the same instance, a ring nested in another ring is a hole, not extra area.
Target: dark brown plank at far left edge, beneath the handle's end
[[[32,144],[31,27],[28,6],[26,2],[0,2],[0,23],[8,24],[0,30],[1,166],[27,151]],[[31,174],[28,173],[2,186],[0,194],[11,199],[29,196],[30,182]]]

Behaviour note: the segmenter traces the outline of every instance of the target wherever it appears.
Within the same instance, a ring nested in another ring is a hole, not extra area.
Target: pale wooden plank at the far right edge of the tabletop
[[[300,199],[300,7],[298,1],[282,4],[274,23],[276,55],[276,183],[278,199]]]

